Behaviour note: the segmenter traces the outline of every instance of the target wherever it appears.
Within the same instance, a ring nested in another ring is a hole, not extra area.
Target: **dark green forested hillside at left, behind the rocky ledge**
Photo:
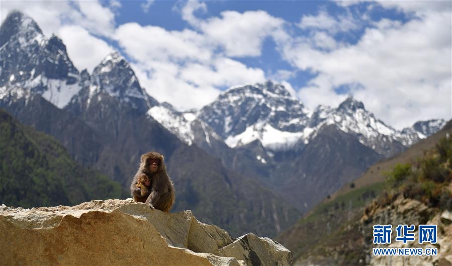
[[[15,207],[75,205],[120,198],[120,184],[75,163],[52,137],[0,110],[0,203]]]

